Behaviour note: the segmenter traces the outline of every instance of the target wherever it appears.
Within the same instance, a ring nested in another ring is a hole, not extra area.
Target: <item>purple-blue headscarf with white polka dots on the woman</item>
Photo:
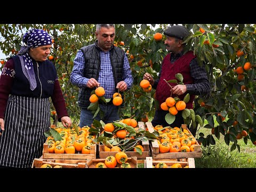
[[[31,29],[23,36],[22,41],[27,46],[21,46],[21,49],[17,55],[20,58],[23,74],[27,77],[29,81],[30,90],[33,91],[37,85],[33,62],[30,55],[28,54],[29,49],[31,47],[51,45],[52,38],[42,29]]]

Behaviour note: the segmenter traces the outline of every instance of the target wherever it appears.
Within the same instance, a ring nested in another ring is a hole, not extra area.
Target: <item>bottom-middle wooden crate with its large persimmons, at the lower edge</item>
[[[87,168],[138,168],[137,157],[127,157],[126,153],[119,151],[115,156],[100,159],[87,159]]]

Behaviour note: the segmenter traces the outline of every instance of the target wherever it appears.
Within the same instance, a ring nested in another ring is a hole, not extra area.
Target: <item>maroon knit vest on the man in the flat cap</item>
[[[156,100],[158,100],[159,106],[161,105],[161,103],[165,102],[166,98],[171,96],[171,87],[167,85],[164,79],[166,81],[176,79],[175,74],[180,73],[183,76],[184,84],[194,83],[194,80],[190,75],[189,63],[195,57],[196,55],[194,55],[193,51],[188,51],[186,54],[183,54],[179,59],[177,59],[174,63],[171,63],[171,53],[167,54],[166,57],[163,59],[161,77],[156,88]],[[177,85],[176,83],[169,84],[171,86]],[[186,94],[187,93],[180,95],[179,98],[183,100]],[[177,97],[177,95],[172,94],[172,97]],[[186,103],[186,108],[193,109],[194,98],[195,95],[190,94],[190,100]],[[159,110],[162,110],[161,107],[159,107]]]

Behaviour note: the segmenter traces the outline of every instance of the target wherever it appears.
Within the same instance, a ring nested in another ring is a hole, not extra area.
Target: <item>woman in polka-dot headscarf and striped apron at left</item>
[[[42,29],[23,36],[17,55],[10,58],[0,79],[0,167],[31,167],[42,156],[50,127],[50,97],[58,121],[71,126],[53,63],[47,60],[52,39]]]

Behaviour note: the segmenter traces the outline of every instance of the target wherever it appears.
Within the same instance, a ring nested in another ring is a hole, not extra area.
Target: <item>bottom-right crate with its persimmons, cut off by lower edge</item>
[[[147,157],[146,168],[195,168],[194,158],[153,159]]]

